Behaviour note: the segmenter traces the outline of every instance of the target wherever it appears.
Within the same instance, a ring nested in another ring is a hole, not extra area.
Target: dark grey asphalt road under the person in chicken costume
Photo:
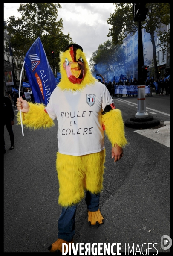
[[[114,103],[124,121],[137,112],[137,97],[115,98]],[[146,96],[146,111],[161,122],[170,121],[170,97]],[[129,144],[117,163],[111,159],[111,144],[105,138],[100,208],[106,223],[89,229],[82,200],[76,212],[75,243],[137,243],[139,235],[141,242],[157,243],[160,235],[169,235],[170,148],[135,130],[125,127]],[[55,121],[49,130],[24,128],[24,136],[17,124],[13,131],[15,148],[9,150],[9,135],[4,129],[4,252],[48,252],[47,247],[57,239],[61,214],[55,168],[57,124]]]

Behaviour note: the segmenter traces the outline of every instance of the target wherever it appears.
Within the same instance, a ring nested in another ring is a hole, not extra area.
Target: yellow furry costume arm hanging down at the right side
[[[102,123],[112,147],[114,147],[115,144],[120,147],[124,147],[127,144],[124,132],[124,122],[120,109],[112,109],[110,112],[102,115]]]

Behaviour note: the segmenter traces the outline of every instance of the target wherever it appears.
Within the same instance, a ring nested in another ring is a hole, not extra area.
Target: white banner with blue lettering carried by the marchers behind
[[[145,86],[145,93],[150,93],[150,85]],[[115,85],[115,94],[138,94],[138,85]]]

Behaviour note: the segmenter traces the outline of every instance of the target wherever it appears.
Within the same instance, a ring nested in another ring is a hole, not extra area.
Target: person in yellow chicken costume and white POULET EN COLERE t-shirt
[[[84,198],[89,225],[104,223],[99,210],[103,186],[105,148],[104,130],[112,143],[114,162],[123,156],[127,144],[121,111],[116,109],[109,91],[96,80],[78,44],[68,45],[60,53],[61,82],[49,103],[29,103],[17,99],[23,124],[32,129],[49,128],[58,121],[56,167],[59,181],[58,240],[48,248],[62,252],[62,243],[72,243],[75,234],[77,204]],[[17,114],[20,124],[20,112]]]

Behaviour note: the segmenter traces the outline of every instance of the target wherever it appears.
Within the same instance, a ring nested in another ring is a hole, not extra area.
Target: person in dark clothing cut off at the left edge
[[[6,125],[7,131],[9,132],[10,135],[10,142],[11,142],[11,147],[10,150],[14,149],[14,133],[12,130],[12,125],[14,125],[14,110],[13,110],[13,106],[11,103],[11,100],[4,96],[3,97],[3,127]],[[6,153],[6,149],[5,149],[5,139],[3,137],[4,140],[4,147],[3,147],[3,151],[4,154]]]

